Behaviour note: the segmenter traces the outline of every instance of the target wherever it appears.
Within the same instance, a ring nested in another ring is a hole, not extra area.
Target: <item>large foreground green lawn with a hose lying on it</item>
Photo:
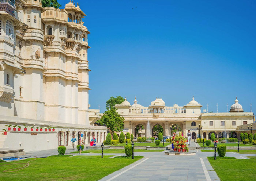
[[[31,161],[29,167],[18,172],[3,173],[3,170],[20,167],[23,165],[6,165],[10,163],[27,163],[34,159],[24,159],[15,162],[0,163],[0,181],[96,181],[120,170],[121,168],[138,161],[142,156],[135,156],[134,159],[127,157],[104,156],[54,156],[37,158]]]

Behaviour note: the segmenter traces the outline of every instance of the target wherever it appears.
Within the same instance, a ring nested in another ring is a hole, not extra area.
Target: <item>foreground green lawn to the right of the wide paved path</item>
[[[256,178],[256,159],[207,158],[221,181],[252,181]]]

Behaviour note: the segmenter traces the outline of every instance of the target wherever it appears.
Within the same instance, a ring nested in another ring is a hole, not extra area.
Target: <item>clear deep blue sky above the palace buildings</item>
[[[64,8],[67,1],[59,1]],[[75,1],[77,4],[78,1]],[[110,96],[148,106],[195,100],[226,112],[234,100],[256,111],[256,1],[84,0],[89,104]]]

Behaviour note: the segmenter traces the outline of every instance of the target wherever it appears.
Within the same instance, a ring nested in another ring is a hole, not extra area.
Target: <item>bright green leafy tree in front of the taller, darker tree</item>
[[[99,119],[96,123],[99,125],[106,125],[109,130],[114,133],[114,131],[119,132],[124,128],[124,117],[121,117],[115,108],[111,108],[108,111],[105,111],[101,119]]]

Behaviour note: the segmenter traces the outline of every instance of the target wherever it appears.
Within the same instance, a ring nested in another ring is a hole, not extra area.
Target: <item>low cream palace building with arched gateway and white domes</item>
[[[199,130],[202,127],[200,137],[210,139],[212,133],[216,138],[240,138],[237,134],[237,127],[244,124],[253,123],[254,115],[252,112],[244,112],[238,100],[231,105],[230,112],[201,112],[202,105],[194,97],[184,106],[166,106],[162,98],[156,98],[147,107],[133,101],[130,104],[127,99],[121,104],[116,104],[117,112],[124,117],[124,131],[136,136],[136,127],[142,126],[140,130],[148,138],[153,136],[153,127],[159,125],[163,128],[163,135],[170,135],[172,124],[180,127],[187,135],[188,130],[192,132],[192,139],[199,138]]]

